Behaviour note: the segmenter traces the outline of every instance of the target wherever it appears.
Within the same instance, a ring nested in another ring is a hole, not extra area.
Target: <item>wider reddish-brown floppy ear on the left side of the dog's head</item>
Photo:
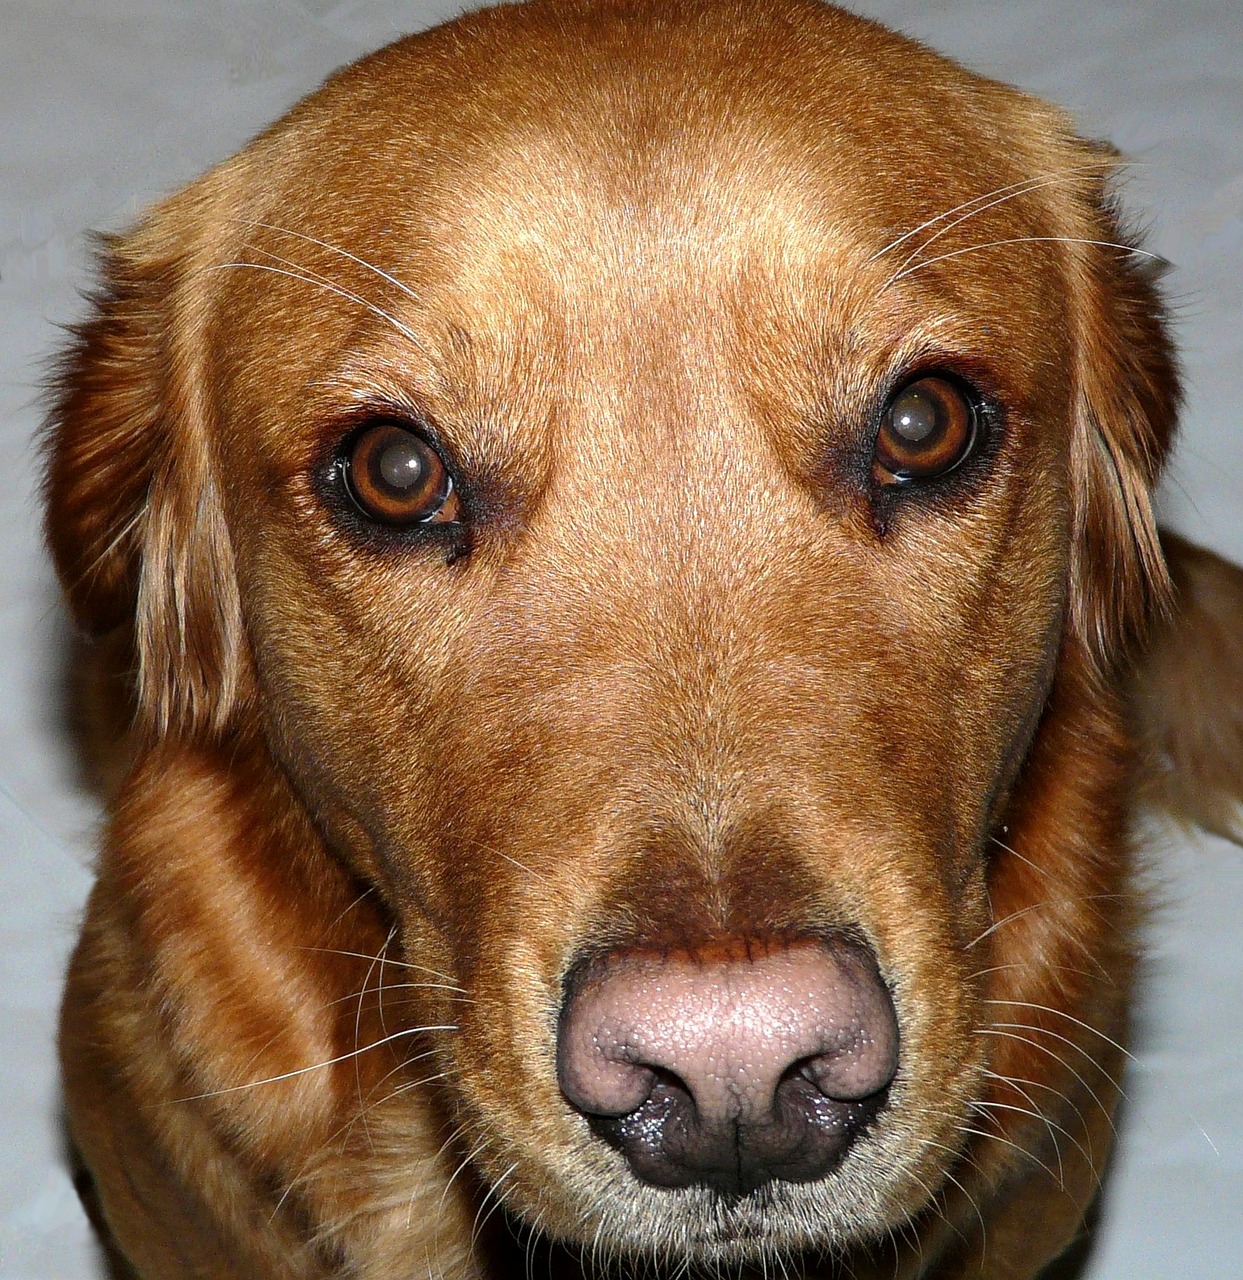
[[[132,636],[138,727],[219,735],[242,623],[196,378],[191,192],[104,241],[104,287],[55,374],[46,535],[73,616]],[[201,275],[198,276],[201,282]]]

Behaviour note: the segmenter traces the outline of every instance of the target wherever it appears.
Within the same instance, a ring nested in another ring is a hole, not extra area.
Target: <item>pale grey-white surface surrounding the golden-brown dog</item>
[[[856,0],[1069,106],[1141,163],[1130,207],[1176,270],[1189,397],[1169,518],[1243,559],[1243,0]],[[65,623],[40,550],[41,361],[118,228],[335,65],[452,4],[0,0],[0,1280],[91,1280],[64,1170],[54,1018],[97,815],[60,726]],[[1243,855],[1156,855],[1130,1103],[1091,1280],[1243,1275]],[[260,1277],[256,1277],[260,1280]]]

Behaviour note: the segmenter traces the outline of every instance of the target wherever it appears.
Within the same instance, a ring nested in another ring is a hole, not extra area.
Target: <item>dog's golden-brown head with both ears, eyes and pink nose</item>
[[[1047,1074],[981,1028],[1111,927],[1030,810],[1105,785],[1048,708],[1109,719],[1173,416],[1111,163],[833,9],[533,4],[114,248],[78,616],[132,620],[152,750],[260,740],[449,980],[412,1021],[543,1230],[876,1236]]]

